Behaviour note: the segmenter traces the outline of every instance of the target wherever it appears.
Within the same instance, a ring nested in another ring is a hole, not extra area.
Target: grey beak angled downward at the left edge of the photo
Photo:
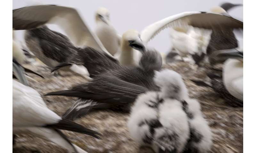
[[[15,77],[24,85],[28,85],[28,81],[24,75],[24,69],[22,66],[16,61],[12,60],[12,71]]]

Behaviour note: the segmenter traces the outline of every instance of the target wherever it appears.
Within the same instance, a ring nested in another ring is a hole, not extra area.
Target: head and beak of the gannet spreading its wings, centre
[[[122,47],[132,47],[140,52],[145,52],[146,48],[140,39],[140,33],[137,30],[130,29],[122,36]]]

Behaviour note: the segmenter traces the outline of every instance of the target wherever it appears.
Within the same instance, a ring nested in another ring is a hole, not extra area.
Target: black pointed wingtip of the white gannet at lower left
[[[90,130],[88,128],[83,127],[80,124],[77,124],[71,120],[67,120],[67,119],[62,119],[59,121],[59,123],[56,124],[51,124],[51,125],[46,125],[46,128],[57,128],[57,129],[61,129],[61,130],[68,130],[68,131],[72,131],[72,132],[78,132],[78,133],[83,133],[86,135],[91,135],[95,138],[100,139],[100,137],[98,135],[100,135],[100,133]]]

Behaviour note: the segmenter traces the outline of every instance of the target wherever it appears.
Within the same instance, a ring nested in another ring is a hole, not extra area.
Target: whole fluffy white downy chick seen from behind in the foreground
[[[200,104],[188,98],[181,76],[165,69],[156,72],[154,80],[160,91],[141,94],[132,107],[128,121],[132,138],[156,152],[209,151],[210,128]]]

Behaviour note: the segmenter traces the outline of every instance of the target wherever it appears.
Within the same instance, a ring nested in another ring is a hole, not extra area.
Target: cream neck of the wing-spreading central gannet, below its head
[[[132,47],[122,44],[121,49],[122,51],[119,57],[120,63],[122,65],[135,65]]]

